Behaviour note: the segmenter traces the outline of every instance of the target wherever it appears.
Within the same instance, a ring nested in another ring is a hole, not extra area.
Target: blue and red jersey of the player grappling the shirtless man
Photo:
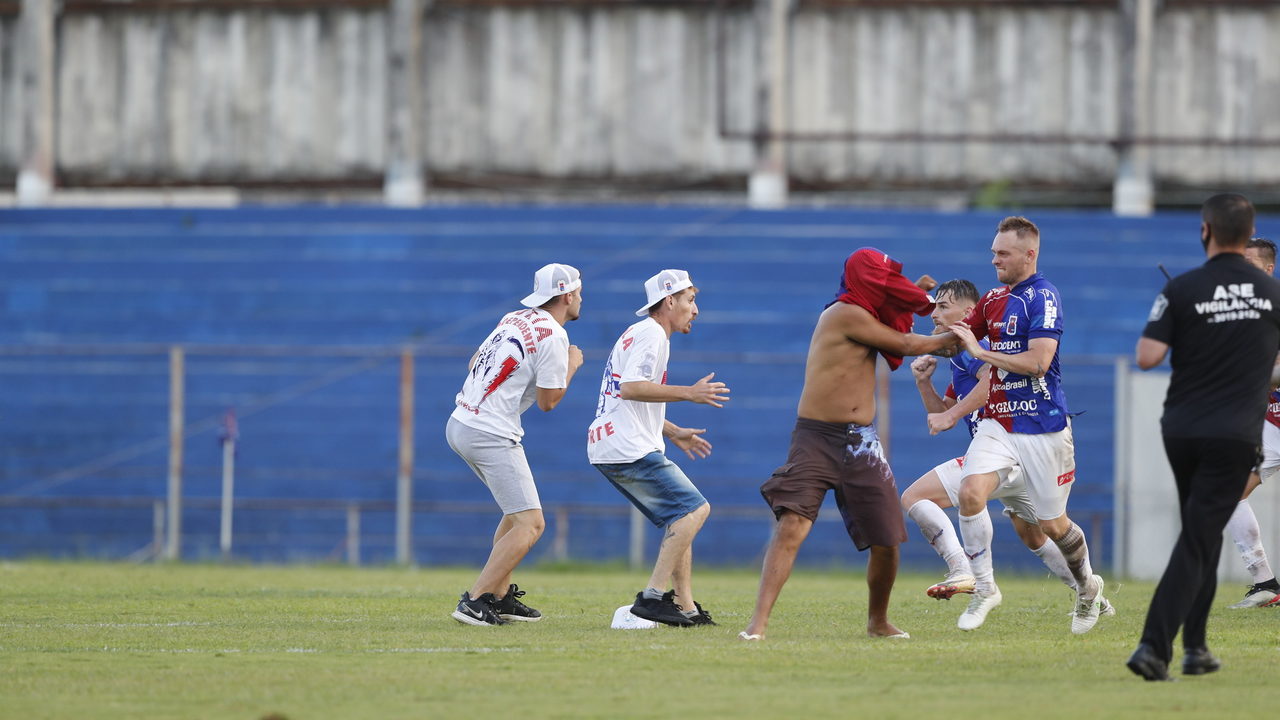
[[[997,287],[974,305],[964,323],[973,334],[991,341],[991,350],[1018,355],[1030,341],[1062,338],[1062,300],[1044,275],[1036,273],[1014,287]],[[1061,347],[1059,347],[1061,350]],[[992,418],[1011,433],[1056,433],[1066,428],[1066,396],[1059,350],[1043,378],[991,368],[991,395],[983,418]]]

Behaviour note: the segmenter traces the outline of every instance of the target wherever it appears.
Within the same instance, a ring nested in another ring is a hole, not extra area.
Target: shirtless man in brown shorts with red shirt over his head
[[[937,283],[924,275],[913,284],[901,270],[901,263],[879,250],[858,250],[845,261],[836,300],[818,318],[787,461],[760,487],[777,525],[764,555],[755,612],[739,634],[741,639],[764,638],[773,603],[791,577],[796,552],[828,489],[836,492],[836,505],[854,544],[870,548],[867,634],[909,637],[888,620],[897,546],[906,541],[906,525],[893,474],[872,424],[876,356],[884,355],[890,368],[896,369],[904,355],[934,352],[955,345],[956,338],[950,332],[910,332],[911,314],[927,315],[933,309],[924,291]]]

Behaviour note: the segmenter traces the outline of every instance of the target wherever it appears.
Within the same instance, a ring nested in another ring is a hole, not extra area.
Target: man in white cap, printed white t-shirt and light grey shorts
[[[503,315],[467,369],[445,438],[502,509],[493,551],[471,589],[462,593],[453,619],[468,625],[531,623],[541,612],[520,601],[525,592],[511,573],[543,534],[543,506],[520,443],[520,415],[538,402],[550,411],[564,397],[582,351],[568,343],[564,323],[582,307],[576,268],[552,263],[534,274],[534,292],[520,301],[527,310]]]

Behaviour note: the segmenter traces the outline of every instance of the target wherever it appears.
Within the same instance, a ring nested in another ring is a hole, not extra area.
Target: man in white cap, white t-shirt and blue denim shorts
[[[667,625],[714,625],[694,600],[692,542],[710,505],[685,473],[664,455],[663,436],[690,459],[710,455],[705,429],[667,420],[667,404],[680,400],[723,407],[728,387],[716,373],[691,386],[667,384],[671,334],[689,333],[698,302],[689,273],[662,270],[644,283],[644,318],[627,328],[604,365],[600,401],[586,433],[586,455],[613,487],[654,525],[666,528],[648,587],[636,593],[631,612]],[[671,580],[673,589],[663,592]],[[676,603],[680,598],[680,605]]]

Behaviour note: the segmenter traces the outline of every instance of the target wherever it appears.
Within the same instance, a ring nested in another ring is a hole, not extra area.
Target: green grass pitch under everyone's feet
[[[637,573],[517,575],[536,624],[449,619],[474,570],[0,564],[3,717],[1245,717],[1280,703],[1280,611],[1230,611],[1224,669],[1143,683],[1124,669],[1152,591],[1108,580],[1119,615],[1069,632],[1070,593],[1001,579],[960,633],[961,601],[899,578],[910,641],[864,637],[865,585],[797,573],[759,644],[736,639],[756,575],[701,571],[717,628],[611,630]]]

